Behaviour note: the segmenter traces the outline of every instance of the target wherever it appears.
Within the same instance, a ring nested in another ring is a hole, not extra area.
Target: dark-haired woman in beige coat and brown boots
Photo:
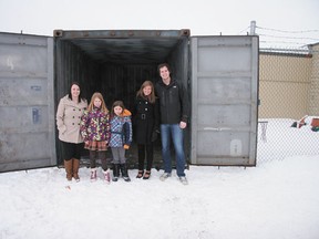
[[[79,167],[83,138],[80,134],[81,116],[88,107],[86,100],[81,97],[80,85],[73,82],[68,95],[60,100],[56,111],[59,139],[63,145],[63,159],[66,179],[80,181]]]

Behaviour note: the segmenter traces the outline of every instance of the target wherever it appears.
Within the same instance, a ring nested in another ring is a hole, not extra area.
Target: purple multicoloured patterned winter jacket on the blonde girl
[[[80,123],[80,132],[84,142],[110,142],[110,114],[94,107],[93,111],[84,111]]]

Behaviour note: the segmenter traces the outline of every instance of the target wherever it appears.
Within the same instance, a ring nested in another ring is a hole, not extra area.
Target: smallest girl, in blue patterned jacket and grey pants
[[[127,173],[125,149],[132,143],[131,112],[127,111],[122,101],[116,101],[111,111],[111,139],[110,147],[113,155],[113,181],[117,181],[120,169],[125,181],[131,181]]]

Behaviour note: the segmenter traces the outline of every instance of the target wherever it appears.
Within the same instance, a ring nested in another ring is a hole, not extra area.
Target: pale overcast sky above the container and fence
[[[251,20],[261,41],[319,42],[319,0],[0,0],[0,32],[49,37],[55,29],[245,34]]]

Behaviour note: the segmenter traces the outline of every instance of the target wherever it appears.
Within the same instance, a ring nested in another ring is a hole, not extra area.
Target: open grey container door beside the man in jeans
[[[258,37],[193,37],[192,164],[255,166]]]

